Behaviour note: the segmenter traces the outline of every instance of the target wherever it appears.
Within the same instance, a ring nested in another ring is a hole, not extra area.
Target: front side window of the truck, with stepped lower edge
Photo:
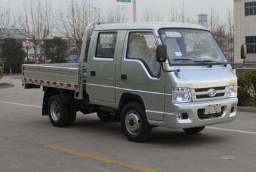
[[[127,44],[126,59],[138,59],[150,75],[157,77],[160,64],[156,61],[157,42],[152,32],[131,32]]]

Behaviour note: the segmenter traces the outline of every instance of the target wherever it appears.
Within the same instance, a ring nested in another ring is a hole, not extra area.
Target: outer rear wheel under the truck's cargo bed
[[[68,120],[68,108],[63,103],[59,94],[52,96],[48,103],[48,115],[54,127],[65,127]]]

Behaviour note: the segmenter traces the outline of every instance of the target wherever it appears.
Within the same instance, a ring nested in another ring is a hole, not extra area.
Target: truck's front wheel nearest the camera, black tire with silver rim
[[[148,124],[145,110],[140,103],[131,102],[124,106],[121,125],[128,140],[141,143],[149,139],[152,127]]]

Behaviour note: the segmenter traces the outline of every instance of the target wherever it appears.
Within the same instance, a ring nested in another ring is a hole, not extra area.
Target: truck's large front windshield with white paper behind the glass
[[[211,32],[192,29],[161,29],[171,64],[227,64]]]

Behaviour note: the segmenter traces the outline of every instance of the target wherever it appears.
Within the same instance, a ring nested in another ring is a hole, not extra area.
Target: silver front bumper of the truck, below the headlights
[[[163,122],[156,124],[171,129],[186,129],[192,127],[202,127],[206,125],[221,124],[236,119],[237,97],[228,99],[218,99],[207,102],[194,103],[165,103]],[[206,106],[221,104],[223,111],[218,117],[202,118],[198,116],[198,110],[205,109]],[[179,117],[180,114],[186,114],[185,119]],[[152,121],[150,121],[151,123]]]

